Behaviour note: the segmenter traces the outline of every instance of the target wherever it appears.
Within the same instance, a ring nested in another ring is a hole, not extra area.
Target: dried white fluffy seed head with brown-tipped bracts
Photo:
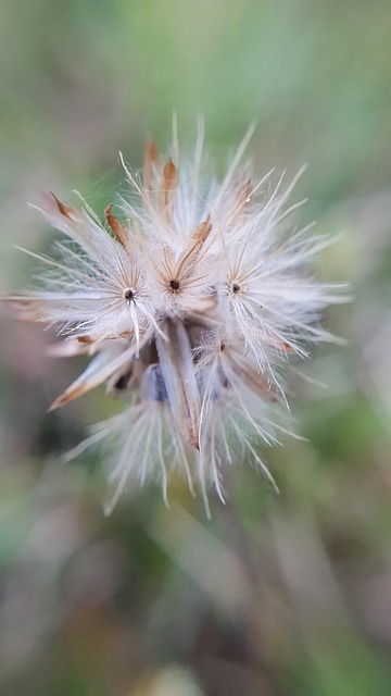
[[[105,443],[116,461],[109,509],[131,478],[159,474],[166,498],[173,467],[191,490],[198,483],[206,510],[211,483],[224,500],[227,462],[249,458],[274,484],[258,445],[281,428],[270,405],[285,400],[282,365],[329,338],[318,315],[338,296],[306,271],[328,240],[310,226],[289,229],[294,182],[272,188],[269,173],[253,183],[240,164],[250,136],[220,184],[202,172],[202,127],[191,162],[179,164],[175,134],[165,163],[148,144],[142,177],[121,158],[133,190],[122,220],[112,204],[102,224],[86,203],[52,196],[43,213],[65,240],[53,258],[38,257],[42,288],[10,298],[58,327],[64,340],[52,352],[92,357],[52,409],[102,383],[128,396],[73,452]]]

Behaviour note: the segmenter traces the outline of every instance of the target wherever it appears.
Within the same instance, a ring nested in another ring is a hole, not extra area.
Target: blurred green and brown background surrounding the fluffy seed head
[[[83,366],[1,311],[0,693],[12,696],[388,696],[391,693],[391,7],[387,0],[2,0],[0,291],[48,249],[28,201],[83,192],[102,214],[173,112],[203,114],[222,171],[255,119],[258,174],[293,176],[303,223],[343,233],[319,272],[354,301],[346,345],[294,385],[295,431],[265,452],[281,495],[227,472],[229,502],[172,483],[105,519],[91,456],[61,453],[118,405],[48,414]]]

